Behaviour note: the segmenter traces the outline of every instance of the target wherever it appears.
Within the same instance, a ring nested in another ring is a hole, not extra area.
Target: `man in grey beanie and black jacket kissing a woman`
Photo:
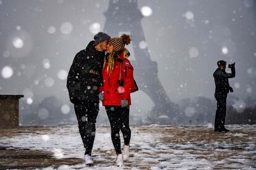
[[[98,33],[95,41],[75,55],[67,76],[70,102],[74,103],[79,132],[85,147],[85,164],[93,164],[91,158],[95,139],[95,123],[99,111],[99,91],[102,86],[101,72],[108,39],[106,33]]]

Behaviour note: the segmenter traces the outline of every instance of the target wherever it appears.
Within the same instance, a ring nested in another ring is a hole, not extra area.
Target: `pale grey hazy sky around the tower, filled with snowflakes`
[[[147,47],[151,60],[158,63],[158,77],[171,101],[181,107],[195,97],[214,101],[212,75],[218,60],[236,62],[236,78],[229,81],[234,108],[239,111],[249,105],[248,99],[255,101],[256,1],[138,4],[152,11],[142,19],[146,43],[140,47]],[[0,94],[25,94],[22,109],[54,96],[61,100],[59,110],[70,114],[66,73],[75,54],[103,31],[107,9],[108,1],[0,0]],[[132,46],[127,48],[133,55]],[[153,107],[142,91],[132,94],[132,103],[138,118]],[[214,104],[209,108],[213,112]],[[37,108],[38,115],[47,112],[42,109]],[[193,109],[184,108],[186,115]]]

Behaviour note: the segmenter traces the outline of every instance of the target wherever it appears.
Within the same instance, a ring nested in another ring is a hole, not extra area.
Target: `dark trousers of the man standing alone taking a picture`
[[[217,110],[215,116],[215,130],[223,129],[226,117],[227,94],[215,94]]]

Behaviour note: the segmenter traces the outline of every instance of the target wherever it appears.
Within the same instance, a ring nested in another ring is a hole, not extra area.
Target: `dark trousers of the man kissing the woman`
[[[85,155],[92,155],[95,139],[95,123],[99,112],[99,101],[87,100],[75,103],[75,115],[79,124],[79,132],[82,137]]]

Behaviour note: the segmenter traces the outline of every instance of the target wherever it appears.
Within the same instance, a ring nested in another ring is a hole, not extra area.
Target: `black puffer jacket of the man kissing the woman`
[[[67,76],[67,89],[72,103],[98,101],[98,87],[102,86],[105,52],[96,51],[94,41],[75,55]]]

